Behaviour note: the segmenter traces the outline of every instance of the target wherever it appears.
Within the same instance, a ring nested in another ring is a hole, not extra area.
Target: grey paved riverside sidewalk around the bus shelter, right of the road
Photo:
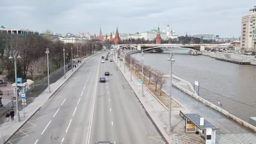
[[[115,59],[114,59],[115,60]],[[116,61],[115,61],[116,62]],[[120,62],[120,61],[118,61]],[[116,63],[117,64],[117,63]],[[168,110],[161,105],[155,97],[144,87],[144,97],[139,93],[139,87],[137,85],[137,79],[132,75],[130,81],[130,72],[126,69],[124,72],[124,64],[120,68],[120,63],[117,67],[125,76],[128,83],[133,88],[137,97],[141,101],[141,104],[147,110],[149,116],[154,121],[157,128],[163,134],[169,144],[204,144],[205,141],[200,135],[190,134],[184,132],[185,120],[179,116],[179,109],[171,110],[171,123],[173,129],[171,132],[166,131],[166,123],[168,120]],[[165,89],[168,91],[168,89]],[[185,113],[199,113],[220,129],[216,131],[216,143],[217,144],[253,144],[256,141],[256,133],[253,133],[249,129],[237,124],[235,121],[228,119],[224,115],[216,112],[214,109],[204,105],[200,101],[182,93],[177,88],[173,87],[173,99],[181,104],[185,109],[182,109]]]

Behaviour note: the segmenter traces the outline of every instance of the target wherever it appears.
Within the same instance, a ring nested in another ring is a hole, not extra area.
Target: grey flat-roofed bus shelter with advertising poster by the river
[[[179,115],[186,119],[186,132],[205,134],[205,144],[215,144],[216,130],[219,129],[216,125],[206,120],[200,114],[184,114],[180,111]]]

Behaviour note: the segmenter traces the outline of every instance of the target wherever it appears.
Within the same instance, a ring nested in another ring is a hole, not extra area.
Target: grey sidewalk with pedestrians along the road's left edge
[[[95,56],[95,55],[94,55]],[[91,56],[88,56],[88,59]],[[61,76],[59,80],[56,80],[56,82],[50,84],[51,93],[48,93],[48,88],[46,86],[45,90],[42,93],[34,92],[32,96],[29,96],[27,98],[27,105],[25,108],[25,118],[23,113],[23,105],[21,106],[21,100],[19,99],[19,115],[20,115],[20,122],[16,121],[16,107],[13,107],[13,110],[15,111],[14,121],[6,121],[6,118],[4,115],[0,118],[0,144],[3,144],[5,141],[7,141],[13,133],[19,130],[19,128],[24,125],[24,123],[27,122],[27,120],[35,113],[37,110],[63,85],[69,77],[73,73],[77,71],[79,67],[81,67],[82,64],[85,63],[87,58],[82,59],[82,62],[79,64],[77,68],[74,69],[74,71],[69,70],[66,72],[66,79],[64,79],[64,76]],[[35,94],[37,93],[37,94]],[[16,106],[16,102],[13,103]]]

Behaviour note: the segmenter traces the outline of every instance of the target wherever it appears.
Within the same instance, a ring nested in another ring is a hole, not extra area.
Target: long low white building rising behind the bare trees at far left
[[[19,35],[39,35],[39,32],[28,29],[9,29],[3,26],[0,27],[0,33],[3,34],[19,34]]]

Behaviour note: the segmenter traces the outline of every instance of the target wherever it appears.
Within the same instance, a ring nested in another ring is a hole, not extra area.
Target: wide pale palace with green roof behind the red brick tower
[[[165,32],[160,32],[160,36],[162,40],[168,40]],[[150,31],[141,32],[141,38],[144,37],[145,40],[155,40],[157,37],[157,29],[152,29]]]

